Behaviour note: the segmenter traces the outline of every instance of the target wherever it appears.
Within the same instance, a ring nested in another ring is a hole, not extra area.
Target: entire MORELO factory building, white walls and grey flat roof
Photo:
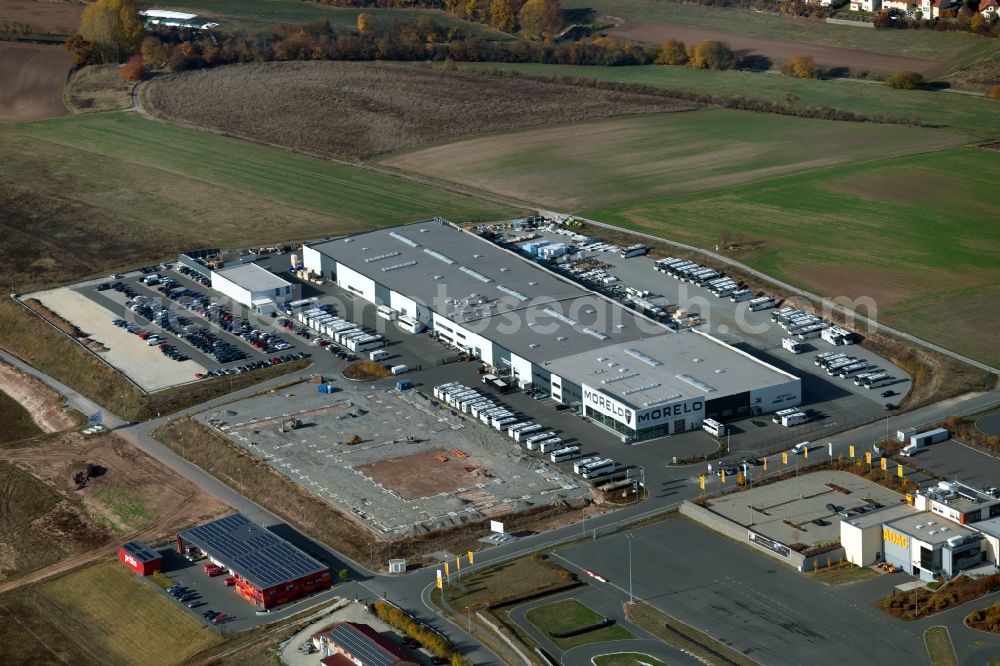
[[[305,267],[639,441],[798,405],[801,382],[441,220],[303,248]]]

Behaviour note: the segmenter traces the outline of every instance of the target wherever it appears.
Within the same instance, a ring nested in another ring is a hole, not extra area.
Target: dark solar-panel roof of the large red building
[[[242,513],[193,527],[181,532],[181,538],[260,589],[329,568]]]

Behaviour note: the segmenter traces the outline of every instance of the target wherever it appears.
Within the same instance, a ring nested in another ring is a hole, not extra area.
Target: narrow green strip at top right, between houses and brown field
[[[567,9],[591,8],[601,15],[726,30],[758,37],[826,44],[893,55],[971,62],[1000,49],[997,40],[966,33],[880,30],[832,25],[749,9],[682,4],[675,0],[565,0]]]

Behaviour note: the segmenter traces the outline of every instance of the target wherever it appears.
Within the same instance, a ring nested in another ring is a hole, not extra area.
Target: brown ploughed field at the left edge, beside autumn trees
[[[66,115],[62,87],[73,63],[62,46],[0,43],[0,123]]]

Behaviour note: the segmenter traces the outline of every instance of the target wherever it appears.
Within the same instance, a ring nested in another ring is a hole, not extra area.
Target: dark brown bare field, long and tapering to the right
[[[352,62],[188,72],[157,79],[146,99],[151,112],[170,120],[351,159],[468,135],[693,108],[649,95]]]

